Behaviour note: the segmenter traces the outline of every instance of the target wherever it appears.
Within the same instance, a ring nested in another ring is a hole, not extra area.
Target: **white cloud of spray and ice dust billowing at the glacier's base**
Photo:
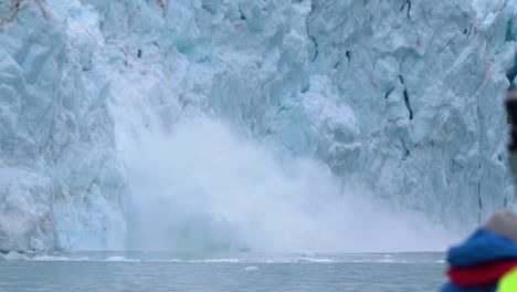
[[[189,251],[443,250],[451,237],[210,118],[147,133],[128,152],[129,248]]]

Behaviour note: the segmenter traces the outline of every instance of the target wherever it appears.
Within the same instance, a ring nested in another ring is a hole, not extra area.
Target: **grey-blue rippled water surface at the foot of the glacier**
[[[54,252],[0,261],[0,291],[437,291],[444,253]]]

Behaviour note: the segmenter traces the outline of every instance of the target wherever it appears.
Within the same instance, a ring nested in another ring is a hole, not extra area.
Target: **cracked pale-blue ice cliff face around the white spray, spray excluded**
[[[513,202],[515,13],[503,0],[1,1],[0,249],[125,248],[128,145],[200,115],[472,227]]]

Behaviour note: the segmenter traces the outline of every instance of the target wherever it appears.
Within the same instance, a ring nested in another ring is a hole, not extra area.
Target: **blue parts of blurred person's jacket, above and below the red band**
[[[498,260],[517,259],[517,244],[509,238],[486,229],[478,229],[465,242],[449,250],[447,262],[452,268],[465,268]],[[447,283],[442,292],[494,292],[497,283],[476,286],[458,286]]]

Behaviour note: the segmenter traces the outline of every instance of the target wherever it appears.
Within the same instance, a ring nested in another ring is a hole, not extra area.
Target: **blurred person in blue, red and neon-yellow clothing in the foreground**
[[[517,215],[495,212],[447,253],[450,282],[441,292],[517,292]]]

